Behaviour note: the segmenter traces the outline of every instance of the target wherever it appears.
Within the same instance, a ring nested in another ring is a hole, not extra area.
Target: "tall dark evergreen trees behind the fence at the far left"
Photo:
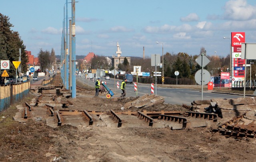
[[[19,33],[11,30],[13,25],[9,22],[10,18],[0,13],[0,60],[9,60],[10,69],[6,70],[9,76],[15,76],[16,68],[12,64],[12,61],[19,60],[19,48],[21,48],[21,73],[26,72],[28,57],[25,52],[26,46],[23,44],[23,40],[20,38]],[[0,70],[2,75],[4,70]]]

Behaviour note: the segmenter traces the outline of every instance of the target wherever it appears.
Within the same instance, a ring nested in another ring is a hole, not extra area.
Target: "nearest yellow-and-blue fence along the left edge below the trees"
[[[29,92],[30,82],[0,86],[0,112],[20,102]]]

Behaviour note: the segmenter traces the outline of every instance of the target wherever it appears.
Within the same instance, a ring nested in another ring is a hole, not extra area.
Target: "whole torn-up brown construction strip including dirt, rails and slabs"
[[[238,103],[242,99],[232,100],[232,104],[230,100],[191,101],[193,105],[182,106],[165,104],[161,97],[153,95],[123,99],[114,96],[107,99],[103,97],[106,94],[95,97],[93,88],[78,86],[76,98],[52,85],[41,86],[42,92],[34,87],[26,100],[2,111],[0,161],[254,162],[256,159],[254,128],[250,128],[251,132],[246,128],[244,136],[230,133],[240,134],[240,130],[234,129],[239,123],[254,126],[254,97],[246,101],[246,106]],[[204,108],[218,109],[214,103],[221,107],[222,116],[220,112],[206,113]]]

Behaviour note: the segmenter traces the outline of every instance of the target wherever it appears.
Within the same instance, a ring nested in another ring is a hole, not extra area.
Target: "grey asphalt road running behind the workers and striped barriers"
[[[94,82],[92,80],[88,81],[77,77],[77,79],[84,82],[84,84],[89,84],[90,86],[94,86]],[[120,96],[122,90],[119,88],[114,88],[114,79],[110,78],[110,80],[105,80],[105,77],[101,77],[102,81],[106,82],[106,85],[112,92],[115,93],[114,96]],[[119,85],[121,85],[122,80],[119,81]],[[133,84],[126,84],[126,97],[136,97],[136,96],[143,96],[144,94],[151,94],[151,84],[141,84],[138,83],[137,85],[138,92],[134,92],[134,83]],[[194,100],[201,100],[202,99],[202,92],[200,90],[193,90],[193,89],[185,89],[185,88],[162,88],[154,85],[154,93],[159,96],[164,96],[164,102],[168,104],[187,104],[191,105],[191,102]],[[239,98],[243,96],[231,95],[231,94],[218,94],[212,93],[210,91],[203,91],[203,100],[210,100],[211,98]]]

